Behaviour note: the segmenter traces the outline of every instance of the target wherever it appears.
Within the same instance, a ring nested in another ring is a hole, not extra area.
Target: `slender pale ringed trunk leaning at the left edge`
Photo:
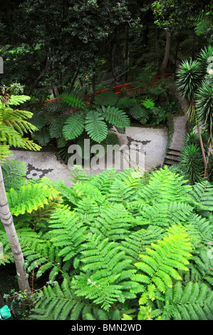
[[[16,264],[16,274],[18,277],[19,289],[21,292],[25,292],[27,294],[27,303],[31,304],[31,288],[28,284],[28,278],[26,275],[26,271],[24,270],[24,257],[21,251],[21,246],[19,243],[19,238],[16,234],[16,229],[14,226],[14,219],[9,210],[9,204],[6,197],[6,191],[4,187],[4,180],[1,170],[1,162],[0,162],[0,219],[2,225],[4,225],[4,229],[6,231],[6,235],[9,239],[9,244],[11,246],[11,250],[14,255],[14,261]]]

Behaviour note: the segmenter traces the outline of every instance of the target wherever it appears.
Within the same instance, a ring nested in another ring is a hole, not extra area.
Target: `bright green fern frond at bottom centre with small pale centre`
[[[125,259],[120,247],[108,239],[100,240],[95,234],[88,236],[81,252],[82,272],[73,279],[76,295],[91,299],[104,310],[108,310],[115,301],[125,301],[125,297],[134,298],[129,288],[134,286],[130,277],[135,269]]]

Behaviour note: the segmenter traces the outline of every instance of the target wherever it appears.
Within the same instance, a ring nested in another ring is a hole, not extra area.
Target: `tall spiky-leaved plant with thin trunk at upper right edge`
[[[213,56],[213,48],[202,49],[197,60],[182,61],[177,70],[177,87],[182,98],[189,100],[188,115],[190,120],[195,120],[199,135],[204,163],[204,177],[208,177],[207,164],[212,152],[212,86],[207,75],[207,61]],[[209,153],[206,158],[200,124],[207,128],[209,134]]]

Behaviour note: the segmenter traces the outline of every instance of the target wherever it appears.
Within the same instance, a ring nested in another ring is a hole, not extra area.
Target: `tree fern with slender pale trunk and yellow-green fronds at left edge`
[[[31,118],[33,114],[26,110],[13,110],[13,108],[9,107],[9,105],[18,105],[19,103],[28,100],[29,97],[10,97],[8,93],[5,93],[4,88],[1,91],[3,96],[1,96],[0,103],[0,220],[2,225],[4,225],[13,252],[19,289],[21,292],[26,293],[26,301],[31,303],[31,288],[28,284],[28,278],[24,270],[24,257],[6,197],[4,179],[1,170],[1,160],[4,160],[6,156],[9,155],[9,145],[31,150],[40,150],[41,147],[23,136],[24,133],[27,133],[28,131],[32,132],[36,130],[36,127],[26,121],[26,119]]]

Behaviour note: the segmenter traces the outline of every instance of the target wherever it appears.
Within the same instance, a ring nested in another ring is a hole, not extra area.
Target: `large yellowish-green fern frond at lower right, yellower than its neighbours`
[[[147,284],[137,287],[137,292],[142,292],[139,304],[145,304],[148,299],[155,300],[156,290],[165,293],[166,287],[172,287],[174,279],[182,279],[177,270],[189,270],[191,249],[185,230],[177,226],[170,227],[167,236],[146,248],[146,254],[140,256],[143,262],[135,263],[139,273],[132,277],[136,282]]]

